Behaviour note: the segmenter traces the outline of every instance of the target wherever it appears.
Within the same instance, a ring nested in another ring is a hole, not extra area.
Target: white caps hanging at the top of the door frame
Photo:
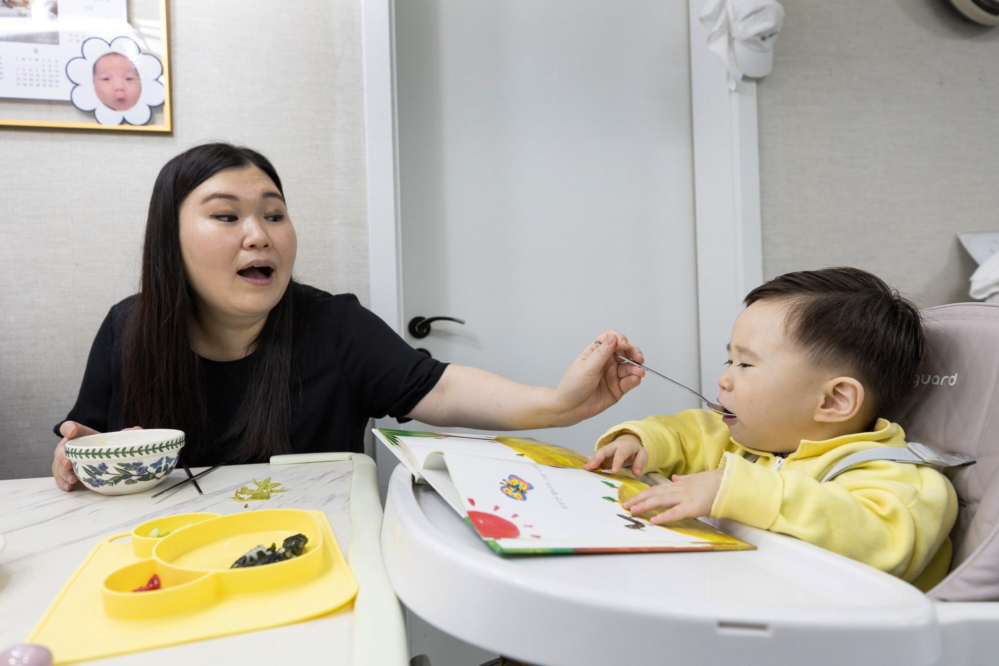
[[[777,0],[707,0],[700,21],[710,31],[707,48],[725,63],[729,90],[743,76],[760,78],[773,69],[773,43],[784,23]]]

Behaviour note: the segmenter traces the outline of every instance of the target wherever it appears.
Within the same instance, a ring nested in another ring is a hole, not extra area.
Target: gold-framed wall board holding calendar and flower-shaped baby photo
[[[167,0],[0,0],[0,125],[170,132]]]

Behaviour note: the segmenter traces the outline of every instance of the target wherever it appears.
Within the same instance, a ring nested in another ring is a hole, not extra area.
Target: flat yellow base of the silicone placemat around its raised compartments
[[[103,539],[63,587],[27,642],[48,647],[55,664],[70,664],[291,624],[335,611],[354,599],[358,584],[326,514],[307,513],[322,531],[327,551],[318,575],[271,589],[223,593],[203,608],[144,619],[110,617],[104,612],[104,580],[141,558],[131,543],[112,543],[117,536]]]

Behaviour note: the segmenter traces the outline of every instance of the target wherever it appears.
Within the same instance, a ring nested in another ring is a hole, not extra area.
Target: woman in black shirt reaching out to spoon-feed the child
[[[225,143],[170,160],[153,187],[142,288],[111,308],[76,405],[55,427],[52,474],[77,482],[65,446],[126,426],[178,428],[189,466],[361,451],[369,418],[525,430],[598,414],[641,381],[614,331],[557,387],[525,386],[410,347],[353,294],[292,279],[298,240],[281,179]],[[138,424],[138,425],[136,425]]]

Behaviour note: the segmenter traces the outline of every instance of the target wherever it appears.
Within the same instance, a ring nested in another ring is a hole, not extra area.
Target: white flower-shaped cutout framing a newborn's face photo
[[[129,37],[116,37],[110,44],[91,37],[80,53],[66,63],[66,76],[75,84],[70,93],[73,106],[93,111],[101,125],[148,123],[152,107],[166,98],[160,59],[142,53]]]

